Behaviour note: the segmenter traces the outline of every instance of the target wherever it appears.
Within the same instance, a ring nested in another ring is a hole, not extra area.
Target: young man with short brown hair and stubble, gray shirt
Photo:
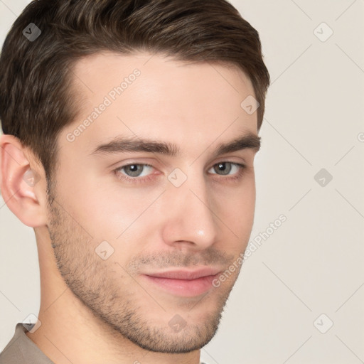
[[[38,0],[0,69],[1,193],[41,271],[0,363],[198,364],[254,219],[257,31],[225,0]]]

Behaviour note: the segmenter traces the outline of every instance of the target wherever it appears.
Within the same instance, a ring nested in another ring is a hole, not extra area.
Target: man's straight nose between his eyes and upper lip
[[[169,186],[164,195],[167,213],[162,235],[167,245],[198,251],[217,241],[218,211],[203,176]]]

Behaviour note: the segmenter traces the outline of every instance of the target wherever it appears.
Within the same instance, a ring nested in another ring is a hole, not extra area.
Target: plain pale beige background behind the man
[[[28,2],[0,0],[1,44]],[[231,2],[259,31],[272,77],[252,240],[287,221],[243,264],[202,359],[363,363],[364,1]],[[0,237],[2,350],[38,314],[40,285],[33,230],[1,198]]]

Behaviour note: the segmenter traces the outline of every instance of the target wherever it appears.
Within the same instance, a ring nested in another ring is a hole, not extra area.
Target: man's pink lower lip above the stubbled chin
[[[213,276],[200,277],[196,279],[172,279],[144,275],[149,282],[152,282],[171,294],[177,296],[194,297],[204,294],[213,287],[213,280],[218,274]]]

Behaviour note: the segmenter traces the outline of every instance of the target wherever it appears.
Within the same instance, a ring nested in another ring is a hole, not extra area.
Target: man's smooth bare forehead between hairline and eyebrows
[[[241,107],[254,95],[252,82],[233,65],[103,52],[78,60],[73,75],[82,102],[61,143],[78,128],[73,147],[87,152],[119,134],[191,147],[196,141],[201,148],[203,140],[211,143],[222,134],[219,141],[257,133],[257,113]]]

